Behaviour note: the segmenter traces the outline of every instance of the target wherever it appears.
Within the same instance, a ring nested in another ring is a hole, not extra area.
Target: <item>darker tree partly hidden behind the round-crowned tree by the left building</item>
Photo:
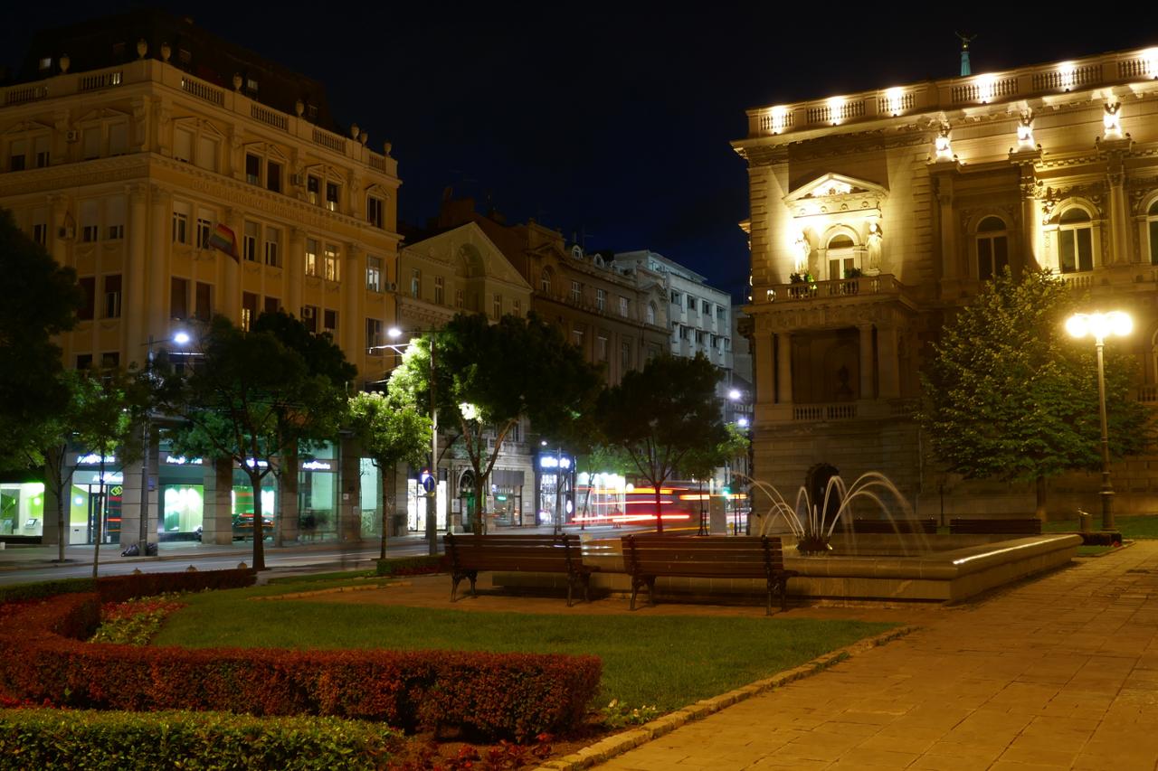
[[[332,405],[336,410],[342,404],[347,384],[358,376],[358,368],[346,361],[346,354],[334,342],[332,335],[309,331],[301,320],[285,310],[263,313],[254,321],[252,330],[259,333],[269,332],[287,348],[300,353],[306,361],[308,375],[328,381],[332,402],[328,401],[327,405]],[[309,451],[334,440],[338,433],[338,423],[344,419],[344,416],[337,412],[317,417],[324,419],[302,423],[298,420],[294,412],[281,412],[278,416],[281,421],[279,431],[288,442],[285,455],[272,467],[273,476],[278,482],[278,526],[274,530],[273,543],[279,546],[285,529],[286,499],[290,495],[298,495],[299,451]],[[296,436],[296,441],[294,441],[294,436]]]

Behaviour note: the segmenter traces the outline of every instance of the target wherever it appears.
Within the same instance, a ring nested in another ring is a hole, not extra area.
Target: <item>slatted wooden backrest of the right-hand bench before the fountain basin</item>
[[[629,535],[622,538],[629,573],[711,578],[757,577],[784,570],[778,537]]]

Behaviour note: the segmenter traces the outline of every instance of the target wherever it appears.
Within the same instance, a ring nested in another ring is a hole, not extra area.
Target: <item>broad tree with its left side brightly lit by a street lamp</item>
[[[580,433],[599,391],[599,369],[535,314],[503,316],[491,324],[483,314],[459,314],[442,329],[417,338],[390,375],[416,404],[428,403],[431,343],[434,392],[441,420],[461,431],[461,441],[481,491],[474,527],[486,515],[488,479],[503,442],[522,418],[544,435]],[[493,434],[494,445],[488,445]],[[438,458],[433,458],[437,463]]]

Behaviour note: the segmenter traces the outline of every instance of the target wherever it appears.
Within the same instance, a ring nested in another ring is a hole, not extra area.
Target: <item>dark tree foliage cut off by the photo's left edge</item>
[[[83,302],[76,273],[61,267],[0,210],[0,458],[27,455],[52,433],[72,394],[60,377],[61,351],[52,336],[73,328]]]

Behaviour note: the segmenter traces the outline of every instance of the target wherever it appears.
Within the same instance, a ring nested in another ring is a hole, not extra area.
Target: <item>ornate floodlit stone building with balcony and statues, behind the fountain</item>
[[[882,86],[892,86],[882,83]],[[1009,265],[1128,310],[1111,346],[1158,382],[1158,50],[1027,66],[748,112],[758,478],[886,472],[919,514],[1029,512],[1029,485],[937,472],[911,418],[947,311]],[[1120,513],[1158,507],[1156,458],[1114,467]],[[1097,473],[1050,511],[1098,511]]]

